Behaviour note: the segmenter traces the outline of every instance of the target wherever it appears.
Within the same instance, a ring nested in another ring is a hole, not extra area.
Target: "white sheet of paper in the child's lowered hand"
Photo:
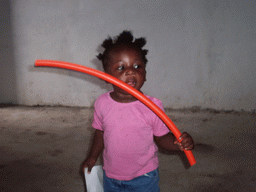
[[[84,169],[84,177],[87,192],[103,192],[103,169],[102,165],[96,165],[88,174],[88,168]]]

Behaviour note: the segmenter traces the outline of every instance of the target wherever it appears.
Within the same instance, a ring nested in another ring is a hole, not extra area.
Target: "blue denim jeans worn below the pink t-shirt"
[[[158,169],[130,181],[108,178],[103,171],[104,192],[159,192]]]

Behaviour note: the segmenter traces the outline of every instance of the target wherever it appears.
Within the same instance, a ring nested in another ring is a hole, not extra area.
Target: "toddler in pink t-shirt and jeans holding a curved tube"
[[[104,71],[140,91],[146,81],[145,38],[135,39],[123,31],[106,39],[102,61]],[[147,96],[163,110],[162,102]],[[179,143],[147,106],[113,86],[95,101],[93,144],[83,167],[91,171],[103,151],[104,191],[157,192],[159,189],[158,147],[169,151],[192,150],[194,142],[182,133]]]

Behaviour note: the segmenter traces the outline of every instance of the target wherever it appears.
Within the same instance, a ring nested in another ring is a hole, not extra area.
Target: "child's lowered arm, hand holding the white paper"
[[[89,153],[89,156],[83,163],[83,170],[85,167],[88,167],[88,173],[91,172],[92,167],[95,165],[99,155],[101,154],[104,148],[103,142],[103,131],[95,130],[92,147]]]

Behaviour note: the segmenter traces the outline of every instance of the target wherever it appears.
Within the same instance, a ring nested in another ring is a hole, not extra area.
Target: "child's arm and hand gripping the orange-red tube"
[[[175,136],[172,133],[168,133],[161,137],[155,136],[156,144],[168,151],[183,151],[185,150],[192,150],[194,149],[194,141],[192,137],[184,132],[181,134],[180,139],[181,142],[178,142]]]

